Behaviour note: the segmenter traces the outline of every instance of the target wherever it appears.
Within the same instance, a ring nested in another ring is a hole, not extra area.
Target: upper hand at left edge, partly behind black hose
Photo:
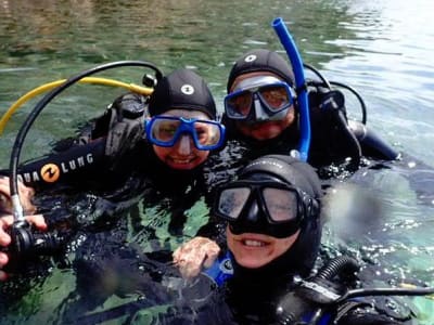
[[[23,210],[27,214],[35,213],[36,207],[31,203],[35,190],[18,181],[18,194]],[[0,212],[12,212],[12,200],[8,177],[0,177]]]

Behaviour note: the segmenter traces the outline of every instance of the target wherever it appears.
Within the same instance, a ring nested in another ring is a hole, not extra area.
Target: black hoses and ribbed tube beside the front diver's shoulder
[[[340,316],[331,320],[331,312],[341,309],[347,312],[357,307],[370,307],[370,302],[359,299],[361,297],[434,294],[433,287],[348,290],[346,285],[333,282],[335,276],[340,276],[344,282],[354,281],[359,269],[356,260],[342,256],[331,260],[312,277],[306,281],[299,280],[297,287],[279,300],[276,310],[277,323],[281,325],[326,325],[331,324],[331,321],[336,322],[345,315],[345,312],[339,313]]]

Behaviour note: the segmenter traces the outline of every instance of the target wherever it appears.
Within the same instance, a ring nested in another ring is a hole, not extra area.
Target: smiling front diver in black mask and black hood
[[[237,180],[216,188],[212,214],[227,229],[215,263],[184,281],[167,265],[146,273],[159,274],[155,295],[144,291],[144,299],[108,310],[72,313],[74,320],[81,325],[120,317],[123,324],[417,324],[412,311],[391,296],[429,295],[434,288],[362,288],[355,259],[320,256],[323,212],[321,183],[308,164],[288,155],[253,160]],[[184,260],[176,266],[187,274]],[[155,297],[169,300],[156,303]]]

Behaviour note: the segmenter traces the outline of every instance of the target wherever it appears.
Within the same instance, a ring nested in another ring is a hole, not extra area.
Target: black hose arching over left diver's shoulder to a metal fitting
[[[144,61],[118,61],[118,62],[111,62],[107,64],[99,65],[97,67],[87,69],[69,79],[64,81],[62,84],[50,91],[46,94],[34,107],[34,109],[29,113],[26,120],[24,121],[23,126],[20,128],[18,133],[16,134],[14,145],[12,147],[11,153],[11,160],[10,160],[10,191],[11,191],[11,198],[12,198],[12,208],[14,214],[14,224],[16,226],[24,226],[26,225],[26,221],[23,216],[23,207],[20,202],[20,193],[18,193],[18,185],[17,185],[17,168],[20,161],[20,155],[23,147],[24,140],[26,138],[27,132],[29,131],[30,127],[33,126],[36,118],[42,112],[42,109],[62,91],[69,88],[72,84],[78,82],[85,77],[90,75],[112,69],[115,67],[122,66],[142,66],[154,70],[155,78],[159,80],[163,77],[163,73],[152,63],[144,62]]]

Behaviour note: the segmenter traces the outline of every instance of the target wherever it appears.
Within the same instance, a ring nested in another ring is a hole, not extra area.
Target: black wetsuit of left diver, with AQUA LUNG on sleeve
[[[123,203],[140,198],[143,194],[146,194],[146,200],[150,202],[157,199],[158,195],[167,195],[175,202],[182,200],[188,209],[196,198],[208,192],[207,173],[212,170],[208,161],[193,170],[169,168],[156,157],[152,145],[143,139],[143,130],[133,128],[127,132],[140,133],[132,135],[132,143],[124,144],[119,141],[115,152],[107,154],[107,134],[117,123],[113,122],[112,117],[118,112],[116,107],[129,112],[139,110],[137,106],[141,107],[140,115],[126,117],[124,114],[118,121],[130,120],[132,125],[143,128],[146,116],[145,99],[137,94],[120,96],[102,117],[85,128],[79,136],[63,140],[55,145],[52,154],[20,166],[18,174],[22,180],[26,185],[35,187],[37,194],[59,187],[68,188],[69,193],[87,192],[118,205],[118,210],[127,207]],[[128,139],[128,134],[126,138]],[[120,139],[123,140],[122,136]],[[55,166],[47,168],[50,164]]]

